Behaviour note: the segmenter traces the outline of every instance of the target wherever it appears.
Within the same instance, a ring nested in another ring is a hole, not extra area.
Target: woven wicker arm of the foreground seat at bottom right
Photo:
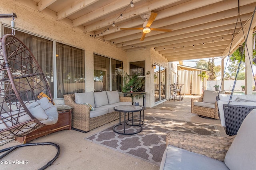
[[[230,148],[234,138],[235,136],[214,137],[191,133],[170,132],[166,137],[166,146],[172,145],[224,162],[226,152]]]

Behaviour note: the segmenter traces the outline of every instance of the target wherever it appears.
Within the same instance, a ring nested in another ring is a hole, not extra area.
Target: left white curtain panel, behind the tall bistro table
[[[190,80],[191,80],[191,71],[189,70],[178,70],[178,83],[184,84],[181,88],[182,94],[190,94]]]

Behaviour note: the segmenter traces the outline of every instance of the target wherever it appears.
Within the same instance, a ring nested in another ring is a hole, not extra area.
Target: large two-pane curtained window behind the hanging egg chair
[[[4,34],[12,29],[4,27]],[[18,37],[30,49],[38,64],[42,68],[50,86],[53,98],[63,98],[64,94],[85,92],[84,83],[84,50],[55,43],[42,37],[16,30]],[[54,63],[53,47],[56,46],[56,63]],[[56,65],[57,73],[53,66]],[[57,80],[54,80],[56,74]],[[54,96],[54,81],[56,81],[57,96]]]

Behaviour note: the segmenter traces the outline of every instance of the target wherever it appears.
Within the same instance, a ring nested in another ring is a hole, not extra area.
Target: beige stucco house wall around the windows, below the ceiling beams
[[[64,22],[57,21],[45,13],[34,10],[36,9],[36,4],[34,4],[34,6],[26,7],[20,4],[19,0],[0,0],[0,4],[0,14],[11,14],[12,12],[17,14],[17,18],[15,18],[17,30],[26,31],[27,33],[32,33],[47,39],[84,49],[86,92],[94,90],[94,53],[123,61],[124,70],[126,72],[129,72],[130,62],[144,60],[146,67],[145,72],[150,71],[150,74],[146,75],[146,92],[148,92],[146,96],[146,107],[154,106],[154,81],[151,81],[154,80],[152,64],[158,63],[167,68],[168,62],[153,49],[125,52],[102,40],[90,37],[90,35],[87,35],[82,31],[81,27],[70,26],[67,24],[71,22],[69,20],[65,20]],[[46,13],[49,14],[51,12],[46,11]],[[12,18],[0,18],[1,26],[10,26],[11,20]],[[2,36],[2,27],[0,27],[0,33]]]

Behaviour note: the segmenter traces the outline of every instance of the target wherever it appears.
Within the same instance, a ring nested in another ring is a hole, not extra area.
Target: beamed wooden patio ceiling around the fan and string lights
[[[238,19],[238,0],[15,0],[54,19],[77,27],[124,51],[154,48],[168,61],[225,57],[244,42]],[[240,0],[242,25],[250,24],[255,0]],[[158,15],[151,31],[140,41],[144,14]],[[122,14],[122,19],[120,15]],[[17,12],[18,15],[18,12]],[[256,18],[256,17],[254,17]],[[239,19],[239,20],[240,20]],[[114,22],[115,27],[112,27]],[[235,29],[236,25],[236,29]],[[251,29],[255,30],[254,19]],[[109,31],[108,31],[109,29]],[[234,36],[232,36],[234,34]],[[193,47],[194,46],[194,47]]]

